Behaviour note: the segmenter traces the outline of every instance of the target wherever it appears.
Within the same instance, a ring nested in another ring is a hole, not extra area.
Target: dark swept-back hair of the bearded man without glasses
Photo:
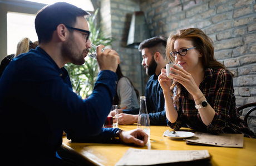
[[[154,55],[156,52],[159,52],[165,59],[165,50],[166,50],[166,39],[163,37],[153,37],[146,39],[139,45],[139,51],[142,49],[148,48],[150,53]]]

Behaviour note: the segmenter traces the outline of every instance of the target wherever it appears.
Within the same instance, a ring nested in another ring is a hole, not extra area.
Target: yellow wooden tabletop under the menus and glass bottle
[[[119,125],[120,129],[129,131],[137,128],[136,125]],[[211,165],[256,165],[256,139],[244,138],[243,148],[227,148],[214,146],[188,145],[183,140],[173,140],[164,137],[163,133],[170,129],[168,126],[151,126],[150,142],[144,147],[125,144],[100,143],[71,143],[63,137],[62,147],[78,153],[95,165],[115,165],[129,148],[156,149],[156,150],[208,150],[211,155]],[[188,128],[181,128],[188,131]]]

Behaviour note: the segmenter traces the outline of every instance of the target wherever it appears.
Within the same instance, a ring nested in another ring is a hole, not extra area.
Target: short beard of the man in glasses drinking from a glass
[[[82,54],[78,52],[78,46],[73,42],[73,35],[70,35],[67,43],[62,46],[62,55],[68,59],[68,62],[75,65],[82,65],[85,63],[85,58],[83,54],[88,52],[88,49],[84,49]]]

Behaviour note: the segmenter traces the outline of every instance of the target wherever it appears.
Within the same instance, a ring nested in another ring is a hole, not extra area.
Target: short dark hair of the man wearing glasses
[[[52,33],[58,25],[64,24],[73,27],[76,23],[76,17],[86,15],[90,15],[90,13],[66,2],[57,2],[43,7],[35,19],[38,43],[50,42]]]

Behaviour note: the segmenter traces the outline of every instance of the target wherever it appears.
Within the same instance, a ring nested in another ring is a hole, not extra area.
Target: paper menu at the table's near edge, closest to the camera
[[[128,149],[115,164],[121,165],[154,165],[176,162],[189,162],[209,158],[207,150],[203,151],[158,151],[148,149]]]

